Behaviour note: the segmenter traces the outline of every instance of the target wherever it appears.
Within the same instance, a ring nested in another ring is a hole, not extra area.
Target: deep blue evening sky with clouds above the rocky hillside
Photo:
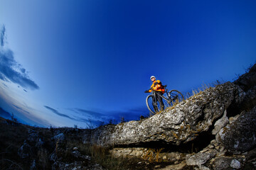
[[[186,93],[256,60],[256,1],[0,4],[0,107],[29,125],[138,120],[151,75]]]

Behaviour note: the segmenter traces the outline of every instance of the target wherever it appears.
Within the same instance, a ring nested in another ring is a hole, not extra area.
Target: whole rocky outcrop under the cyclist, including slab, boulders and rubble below
[[[201,91],[151,118],[91,130],[84,142],[114,147],[114,157],[171,162],[163,169],[256,169],[255,119],[256,64],[237,81]],[[203,134],[211,140],[193,151]],[[184,145],[192,153],[174,149]],[[159,146],[173,150],[159,152]]]

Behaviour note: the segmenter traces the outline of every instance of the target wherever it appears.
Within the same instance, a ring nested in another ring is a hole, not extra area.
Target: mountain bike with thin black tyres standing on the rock
[[[166,85],[167,86],[167,85]],[[159,101],[156,100],[156,95],[161,96],[163,103],[164,103],[164,109],[173,106],[175,103],[181,102],[184,100],[183,94],[181,94],[180,91],[177,90],[171,90],[168,92],[168,89],[166,89],[166,86],[164,86],[164,94],[157,94],[155,91],[152,91],[152,94],[146,97],[146,106],[149,108],[149,111],[153,114],[159,113],[161,111],[161,106]],[[153,102],[156,101],[156,102]]]

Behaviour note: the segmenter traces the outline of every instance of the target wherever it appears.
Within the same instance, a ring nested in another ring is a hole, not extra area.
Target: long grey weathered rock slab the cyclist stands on
[[[96,128],[90,136],[87,135],[90,139],[86,141],[104,147],[144,142],[186,143],[207,131],[233,103],[238,93],[238,86],[227,82],[201,91],[151,118]]]

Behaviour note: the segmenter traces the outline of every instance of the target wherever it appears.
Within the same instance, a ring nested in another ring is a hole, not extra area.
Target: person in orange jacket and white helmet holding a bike
[[[164,111],[164,102],[163,102],[163,99],[161,98],[161,95],[164,94],[164,86],[162,86],[161,81],[156,80],[156,77],[151,76],[150,79],[152,81],[151,88],[145,91],[145,93],[151,93],[151,91],[155,91],[156,98],[153,98],[154,110],[158,112],[158,108],[157,108],[157,101],[158,101],[160,104],[161,111]]]

